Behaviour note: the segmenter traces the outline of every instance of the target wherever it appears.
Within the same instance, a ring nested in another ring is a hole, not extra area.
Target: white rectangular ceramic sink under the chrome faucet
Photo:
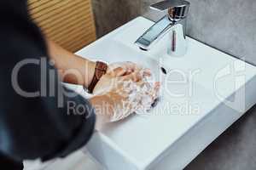
[[[153,24],[138,17],[77,53],[136,62],[162,83],[151,111],[96,129],[86,150],[107,169],[183,169],[256,103],[253,65],[189,37],[183,57],[166,53],[168,35],[150,51],[137,48],[134,42]]]

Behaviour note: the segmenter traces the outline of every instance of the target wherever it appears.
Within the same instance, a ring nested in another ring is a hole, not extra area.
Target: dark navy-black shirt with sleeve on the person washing
[[[67,156],[94,131],[94,109],[61,85],[47,55],[26,1],[1,0],[0,152],[18,161]]]

